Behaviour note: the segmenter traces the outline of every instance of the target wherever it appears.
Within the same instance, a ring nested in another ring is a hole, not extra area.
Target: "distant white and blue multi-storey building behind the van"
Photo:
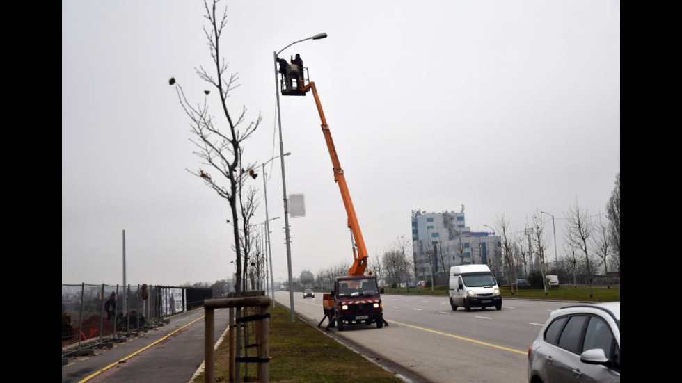
[[[412,211],[412,244],[417,279],[447,284],[450,266],[485,264],[497,277],[502,272],[502,242],[494,232],[475,232],[466,226],[464,206],[459,212]]]

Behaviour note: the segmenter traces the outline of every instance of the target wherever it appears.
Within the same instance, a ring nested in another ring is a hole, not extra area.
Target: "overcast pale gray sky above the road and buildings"
[[[262,115],[245,161],[279,152],[273,51],[301,54],[315,81],[372,262],[411,211],[461,209],[489,231],[523,231],[539,211],[578,202],[603,213],[620,171],[619,1],[223,1],[221,40],[239,75],[228,108]],[[295,4],[295,6],[292,6]],[[221,4],[219,4],[221,5]],[[214,90],[202,1],[62,2],[62,282],[215,282],[235,268],[228,203],[187,169],[193,104]],[[216,91],[208,96],[216,121]],[[312,94],[280,97],[292,270],[316,273],[352,252],[347,215]],[[259,165],[260,170],[260,165]],[[266,166],[273,266],[287,279],[279,159]],[[264,222],[262,174],[254,223]],[[551,220],[546,232],[551,232]],[[553,256],[553,246],[549,249]]]

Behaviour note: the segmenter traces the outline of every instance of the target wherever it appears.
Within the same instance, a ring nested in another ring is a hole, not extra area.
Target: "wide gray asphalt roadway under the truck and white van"
[[[366,357],[389,369],[415,374],[411,378],[415,382],[527,382],[528,346],[550,311],[566,305],[503,300],[500,311],[466,312],[462,308],[452,311],[444,296],[384,294],[381,298],[388,326],[328,331],[356,343]],[[288,293],[277,293],[276,302],[288,308]],[[315,299],[294,293],[294,310],[317,326],[323,317],[322,293]],[[324,320],[322,326],[326,324]]]

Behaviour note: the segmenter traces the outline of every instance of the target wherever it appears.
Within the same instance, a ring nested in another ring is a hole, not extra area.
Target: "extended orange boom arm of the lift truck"
[[[346,213],[348,215],[348,227],[351,229],[351,234],[354,238],[353,257],[355,261],[353,263],[353,266],[351,266],[351,268],[348,270],[348,275],[364,275],[365,269],[367,268],[367,249],[365,248],[365,240],[363,239],[363,233],[362,231],[360,231],[358,217],[355,215],[353,201],[351,201],[351,195],[348,191],[348,186],[346,184],[346,179],[343,175],[343,170],[341,169],[339,157],[336,155],[334,142],[331,139],[331,131],[329,131],[329,126],[327,125],[327,122],[324,119],[322,104],[319,103],[319,97],[317,96],[317,90],[315,89],[314,81],[311,81],[310,83],[308,83],[308,85],[301,88],[301,91],[307,92],[309,89],[312,89],[312,94],[315,95],[315,104],[317,104],[319,118],[320,120],[322,120],[322,133],[324,133],[324,139],[327,142],[327,148],[329,149],[329,155],[331,156],[331,163],[334,166],[333,169],[334,181],[338,184],[339,190],[341,190],[341,198],[343,199],[343,204],[346,207]]]

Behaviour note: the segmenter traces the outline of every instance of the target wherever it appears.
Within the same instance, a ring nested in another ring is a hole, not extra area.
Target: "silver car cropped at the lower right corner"
[[[528,382],[620,382],[620,362],[620,302],[562,307],[528,348]]]

